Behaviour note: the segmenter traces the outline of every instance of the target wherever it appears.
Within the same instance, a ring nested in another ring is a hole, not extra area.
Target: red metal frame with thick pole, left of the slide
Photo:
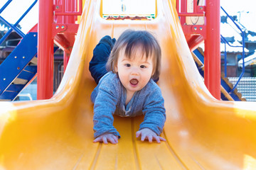
[[[79,7],[78,7],[79,6]],[[39,0],[37,98],[53,96],[53,45],[64,51],[64,69],[75,41],[82,0]]]

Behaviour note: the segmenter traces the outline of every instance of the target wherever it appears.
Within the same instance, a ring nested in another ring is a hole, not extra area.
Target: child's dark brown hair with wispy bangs
[[[117,42],[115,42],[110,57],[107,60],[107,71],[114,72],[114,67],[117,65],[120,50],[125,47],[124,55],[131,58],[134,56],[133,52],[136,52],[135,48],[142,47],[142,52],[148,57],[153,56],[153,75],[152,79],[158,79],[161,69],[161,47],[156,38],[146,30],[125,30],[122,33]]]

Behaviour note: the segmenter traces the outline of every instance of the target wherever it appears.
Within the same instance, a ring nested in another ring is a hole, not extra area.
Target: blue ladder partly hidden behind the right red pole
[[[202,77],[204,77],[204,56],[202,53],[196,49],[192,52],[193,58],[198,67],[198,71]],[[238,90],[233,90],[233,84],[228,81],[228,78],[224,74],[221,75],[221,99],[223,101],[245,101],[245,98],[242,98],[242,94],[238,93]],[[233,98],[233,99],[232,99]]]

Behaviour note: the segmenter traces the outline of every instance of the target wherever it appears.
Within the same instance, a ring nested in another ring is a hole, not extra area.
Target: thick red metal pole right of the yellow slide
[[[220,0],[206,0],[205,84],[220,100]]]

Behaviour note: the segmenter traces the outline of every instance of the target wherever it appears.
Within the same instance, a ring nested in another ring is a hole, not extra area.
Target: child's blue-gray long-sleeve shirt
[[[136,91],[131,101],[125,105],[126,89],[122,86],[117,74],[108,72],[100,79],[91,94],[94,103],[93,130],[94,137],[110,132],[120,137],[114,128],[113,115],[134,117],[144,115],[144,121],[139,130],[149,128],[160,135],[166,120],[164,98],[161,89],[150,79],[149,83],[140,91]]]

